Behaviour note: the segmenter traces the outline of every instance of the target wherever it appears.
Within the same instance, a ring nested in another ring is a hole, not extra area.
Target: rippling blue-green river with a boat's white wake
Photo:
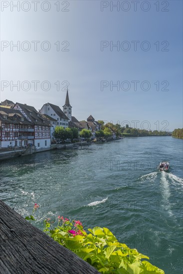
[[[157,165],[169,160],[169,172]],[[137,137],[0,162],[0,198],[35,226],[58,215],[107,227],[166,274],[183,270],[183,140]]]

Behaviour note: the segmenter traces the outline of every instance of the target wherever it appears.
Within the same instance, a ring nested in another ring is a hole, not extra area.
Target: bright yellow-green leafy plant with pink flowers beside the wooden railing
[[[62,221],[62,224],[60,222]],[[164,271],[144,259],[149,257],[118,242],[107,228],[94,227],[87,234],[79,221],[70,222],[63,217],[58,225],[44,231],[60,245],[70,249],[103,274],[164,274]],[[143,261],[142,261],[143,259]]]

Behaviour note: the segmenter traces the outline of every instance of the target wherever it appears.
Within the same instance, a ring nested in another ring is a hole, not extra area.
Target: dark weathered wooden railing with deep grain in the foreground
[[[0,274],[97,274],[0,200]]]

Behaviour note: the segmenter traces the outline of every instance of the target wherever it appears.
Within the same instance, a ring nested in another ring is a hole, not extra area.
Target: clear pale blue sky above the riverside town
[[[79,121],[183,128],[182,0],[0,4],[0,102],[62,109],[68,87]]]

